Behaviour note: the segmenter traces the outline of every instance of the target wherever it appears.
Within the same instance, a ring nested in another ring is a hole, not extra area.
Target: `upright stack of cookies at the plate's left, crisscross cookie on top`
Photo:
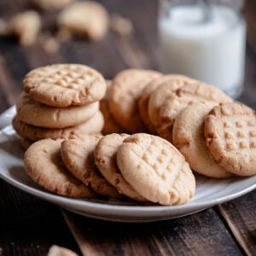
[[[79,64],[55,64],[27,73],[17,103],[15,131],[27,145],[44,138],[100,133],[99,101],[106,82],[96,70]]]

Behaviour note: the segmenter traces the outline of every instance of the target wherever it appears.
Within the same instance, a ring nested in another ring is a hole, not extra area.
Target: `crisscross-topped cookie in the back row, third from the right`
[[[160,125],[158,133],[160,137],[172,142],[172,126],[184,108],[192,102],[232,102],[232,99],[225,95],[223,91],[218,90],[211,85],[196,82],[186,84],[182,88],[175,91],[172,96],[166,98],[160,107]]]

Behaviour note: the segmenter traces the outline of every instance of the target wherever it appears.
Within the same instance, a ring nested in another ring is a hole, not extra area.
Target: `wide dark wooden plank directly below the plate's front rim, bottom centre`
[[[165,222],[120,224],[63,211],[84,255],[242,255],[212,209]]]

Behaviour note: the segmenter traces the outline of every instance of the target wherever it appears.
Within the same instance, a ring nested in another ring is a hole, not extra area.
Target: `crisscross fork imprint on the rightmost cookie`
[[[224,120],[224,139],[229,151],[256,148],[256,121],[252,116],[243,120]]]

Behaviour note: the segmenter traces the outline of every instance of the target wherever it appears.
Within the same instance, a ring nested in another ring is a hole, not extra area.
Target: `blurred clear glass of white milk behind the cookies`
[[[160,0],[160,69],[241,94],[246,23],[242,0]]]

